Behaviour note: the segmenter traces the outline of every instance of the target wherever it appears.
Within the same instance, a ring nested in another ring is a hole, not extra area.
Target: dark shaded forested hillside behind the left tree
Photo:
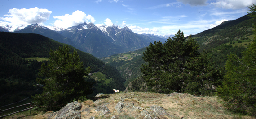
[[[39,88],[39,86],[36,87],[37,82],[35,80],[39,72],[38,69],[43,62],[47,64],[47,60],[50,57],[50,49],[56,50],[63,45],[66,44],[39,34],[0,32],[0,90],[1,95],[5,95],[4,98],[0,98],[0,105],[13,103],[12,101],[15,102],[15,99],[13,100],[12,97],[8,96],[11,94],[19,93],[17,96],[19,97],[40,93],[40,91],[35,92]],[[106,85],[124,90],[124,79],[121,78],[120,73],[114,67],[104,66],[105,63],[93,55],[79,51],[70,45],[69,47],[71,52],[77,51],[84,66],[91,67],[91,72],[100,71],[106,77],[111,77],[111,82]],[[39,61],[39,57],[44,60]],[[21,89],[23,93],[20,93]],[[94,89],[96,90],[97,86]],[[110,93],[109,90],[106,92]]]

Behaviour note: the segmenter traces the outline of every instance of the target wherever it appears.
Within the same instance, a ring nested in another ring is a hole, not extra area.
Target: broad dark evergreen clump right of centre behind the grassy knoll
[[[180,30],[165,44],[150,43],[142,57],[147,63],[141,68],[147,85],[166,94],[173,91],[211,94],[220,84],[221,72],[209,65],[206,54],[200,55],[198,48],[199,44],[191,36],[186,41]]]

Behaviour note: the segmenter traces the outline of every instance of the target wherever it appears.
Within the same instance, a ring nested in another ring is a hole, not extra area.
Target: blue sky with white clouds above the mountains
[[[119,25],[134,33],[185,35],[247,15],[256,0],[0,0],[0,26]]]

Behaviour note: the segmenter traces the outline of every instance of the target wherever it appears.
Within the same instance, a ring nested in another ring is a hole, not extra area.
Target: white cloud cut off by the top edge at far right
[[[225,9],[240,9],[251,6],[252,3],[256,3],[255,0],[216,0],[216,2],[211,2],[210,5],[214,5],[219,8]]]

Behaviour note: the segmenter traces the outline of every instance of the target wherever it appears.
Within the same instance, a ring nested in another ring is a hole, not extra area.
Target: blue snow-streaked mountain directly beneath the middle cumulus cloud
[[[112,43],[111,37],[104,35],[93,23],[69,27],[57,33],[70,38],[75,45],[95,57],[108,57],[125,51],[123,47]]]

